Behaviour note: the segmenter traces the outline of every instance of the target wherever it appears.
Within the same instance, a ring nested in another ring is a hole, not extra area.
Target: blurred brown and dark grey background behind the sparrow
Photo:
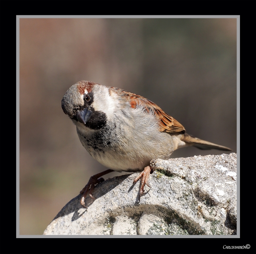
[[[80,80],[142,95],[189,134],[236,152],[236,19],[20,19],[20,234],[43,234],[106,170],[61,109]]]

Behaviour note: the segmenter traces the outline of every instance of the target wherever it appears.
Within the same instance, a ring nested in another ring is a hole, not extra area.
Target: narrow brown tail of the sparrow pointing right
[[[201,150],[218,149],[222,151],[231,151],[231,149],[226,146],[216,145],[200,138],[195,138],[187,133],[184,133],[183,135],[184,137],[181,139],[182,141],[190,144],[191,146],[196,146]]]

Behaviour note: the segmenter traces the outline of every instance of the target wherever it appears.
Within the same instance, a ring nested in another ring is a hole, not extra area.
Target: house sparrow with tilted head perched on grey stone
[[[231,151],[185,132],[172,116],[164,113],[154,102],[116,87],[102,86],[91,81],[80,81],[63,96],[61,107],[76,125],[84,148],[108,169],[90,178],[81,190],[81,205],[101,177],[112,171],[141,172],[140,197],[148,184],[154,158],[168,159],[180,147]]]

